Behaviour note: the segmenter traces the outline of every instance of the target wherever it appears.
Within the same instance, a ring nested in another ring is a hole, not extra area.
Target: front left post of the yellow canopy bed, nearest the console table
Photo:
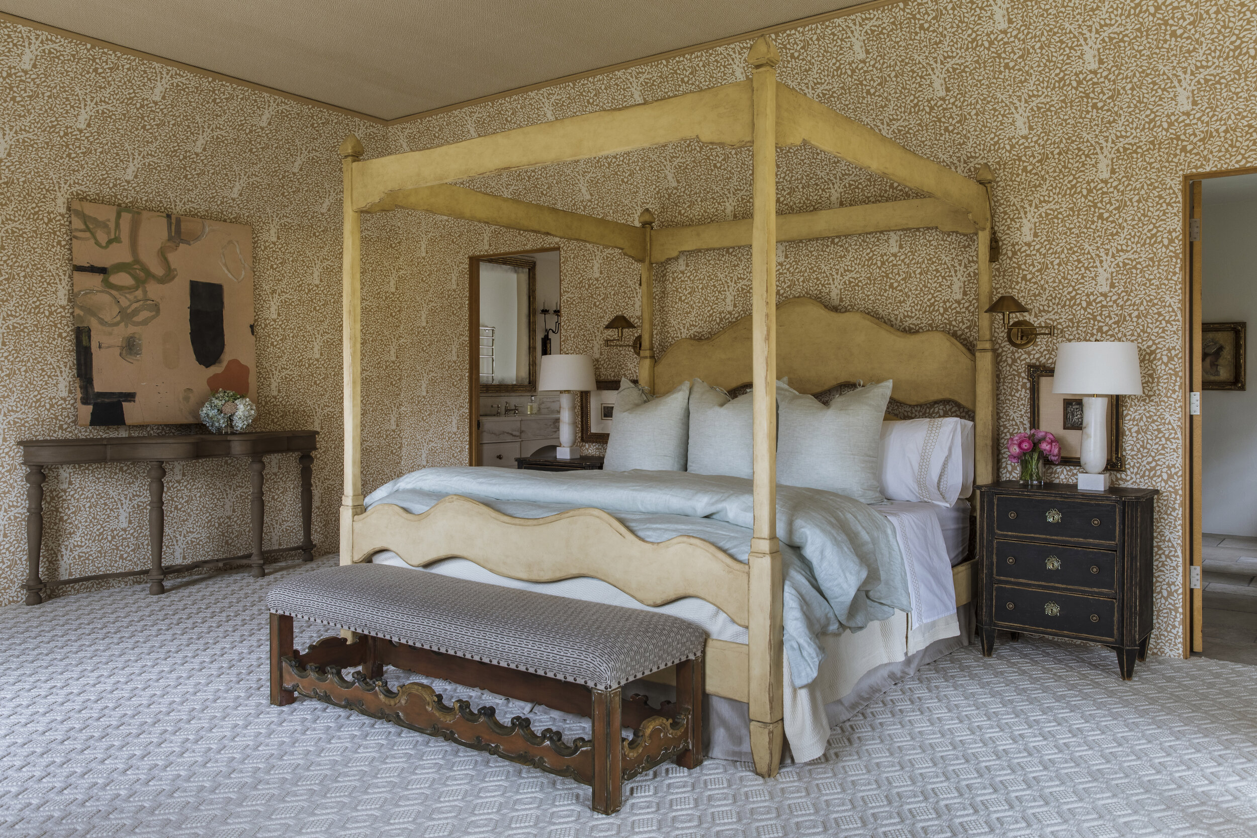
[[[341,498],[341,564],[353,562],[353,516],[362,514],[362,219],[353,210],[353,163],[362,142],[341,143],[344,240],[341,245],[341,340],[344,364],[344,495]]]

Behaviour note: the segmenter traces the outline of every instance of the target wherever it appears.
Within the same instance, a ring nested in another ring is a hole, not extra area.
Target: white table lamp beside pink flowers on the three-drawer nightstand
[[[1056,347],[1052,392],[1082,396],[1082,446],[1079,489],[1109,487],[1109,397],[1143,396],[1139,347],[1134,343],[1087,340]]]

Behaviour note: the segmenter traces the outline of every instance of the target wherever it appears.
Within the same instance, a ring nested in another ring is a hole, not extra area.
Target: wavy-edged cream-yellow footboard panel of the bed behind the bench
[[[602,579],[646,606],[699,597],[749,622],[747,565],[693,535],[644,541],[601,509],[512,518],[463,495],[415,515],[378,504],[353,519],[353,562],[392,550],[424,567],[464,558],[512,579]]]

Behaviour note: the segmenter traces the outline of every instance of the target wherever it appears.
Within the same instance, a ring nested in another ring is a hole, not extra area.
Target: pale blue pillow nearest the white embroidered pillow
[[[777,482],[880,504],[877,441],[892,382],[838,396],[826,407],[777,384]]]

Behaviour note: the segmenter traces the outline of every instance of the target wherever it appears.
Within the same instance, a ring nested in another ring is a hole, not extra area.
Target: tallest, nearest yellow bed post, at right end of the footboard
[[[774,776],[782,722],[782,554],[777,543],[777,63],[767,36],[750,48],[753,200],[750,232],[752,374],[754,386],[754,529],[750,539],[748,695],[755,774]]]

